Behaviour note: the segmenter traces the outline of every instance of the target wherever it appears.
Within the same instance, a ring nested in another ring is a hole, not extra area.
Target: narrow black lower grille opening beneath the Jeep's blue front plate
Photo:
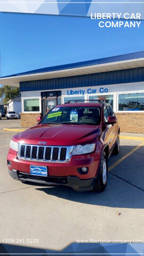
[[[40,181],[45,181],[45,182],[50,182],[50,183],[57,183],[57,184],[67,184],[68,183],[68,178],[67,177],[41,177],[41,176],[36,176],[36,175],[31,175],[27,173],[22,173],[18,172],[18,177],[19,179],[25,179],[25,180],[40,180]]]

